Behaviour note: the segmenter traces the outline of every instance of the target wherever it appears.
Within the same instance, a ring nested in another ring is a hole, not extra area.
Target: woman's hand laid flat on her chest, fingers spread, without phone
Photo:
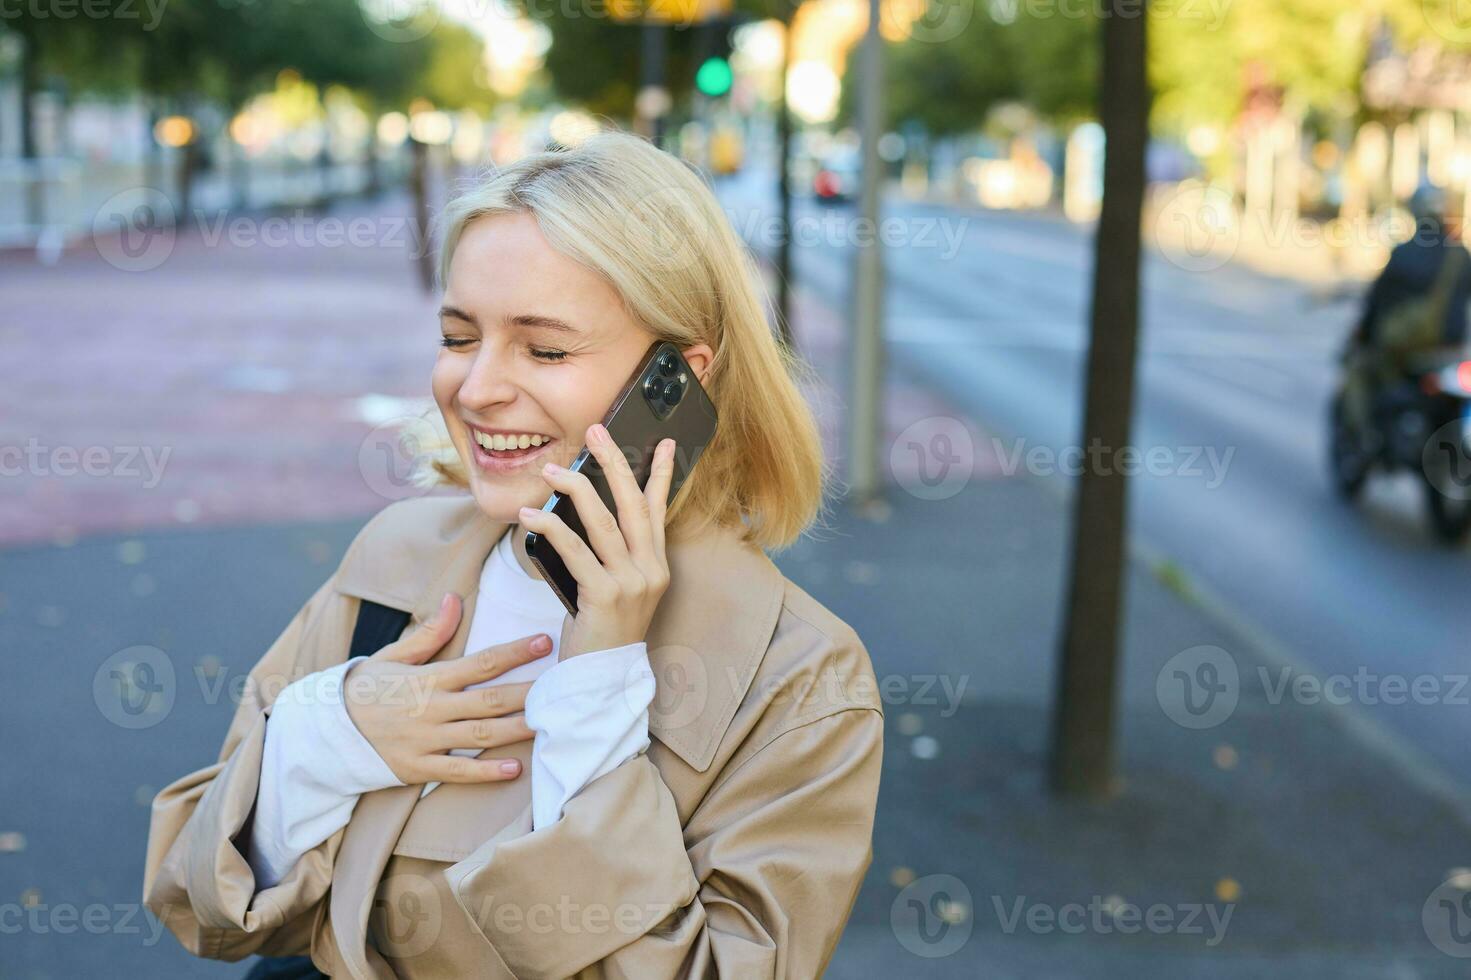
[[[459,621],[460,599],[447,594],[422,628],[355,664],[343,677],[347,715],[393,774],[410,786],[512,780],[521,773],[516,759],[477,759],[449,750],[493,749],[535,734],[525,717],[530,681],[465,689],[546,656],[552,639],[537,633],[430,664]]]

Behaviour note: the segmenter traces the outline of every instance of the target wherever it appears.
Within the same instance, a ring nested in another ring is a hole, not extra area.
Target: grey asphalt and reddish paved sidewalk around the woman
[[[194,293],[157,277],[112,284],[137,303],[125,340],[163,349],[191,335],[197,310],[218,310],[202,302],[238,297],[213,340],[238,335],[253,374],[221,387],[228,365],[190,341],[152,412],[141,394],[109,390],[84,405],[57,399],[66,412],[50,428],[21,428],[65,444],[115,443],[135,428],[135,441],[177,444],[178,459],[150,494],[72,480],[62,509],[26,493],[0,524],[29,531],[0,555],[0,649],[10,653],[0,745],[49,752],[44,765],[16,750],[0,762],[0,911],[41,915],[0,939],[4,977],[243,974],[187,956],[140,914],[147,806],[162,780],[207,761],[231,681],[384,503],[357,468],[377,416],[338,409],[427,384],[432,355],[406,321],[428,300],[410,291],[405,256],[227,258],[185,247],[165,266],[207,284]],[[72,322],[109,316],[115,296],[79,288],[99,272],[68,259],[47,274]],[[382,291],[355,288],[369,283]],[[375,312],[393,290],[399,299]],[[254,330],[253,316],[265,316]],[[353,335],[322,335],[332,324]],[[843,310],[799,290],[794,333],[825,378],[813,400],[837,461],[843,324]],[[96,331],[88,355],[104,358],[110,337]],[[331,377],[272,374],[299,350],[324,365],[355,356]],[[153,377],[137,358],[128,371]],[[303,391],[321,400],[302,402]],[[101,413],[119,402],[121,422]],[[1106,805],[1050,798],[1064,503],[1040,480],[1002,475],[983,422],[899,371],[887,406],[888,508],[865,518],[837,505],[827,531],[778,556],[863,637],[886,699],[874,861],[831,977],[1465,976],[1471,917],[1455,884],[1471,886],[1471,828],[1337,715],[1274,703],[1259,668],[1271,680],[1278,665],[1141,564],[1128,572],[1121,793]],[[194,408],[203,421],[190,421]],[[234,436],[215,444],[221,424]],[[260,499],[263,480],[285,490]],[[203,505],[184,521],[178,499]],[[62,540],[37,533],[34,522],[60,519],[72,528]],[[128,728],[94,684],[138,645],[174,671],[175,696],[157,724]],[[1206,683],[1203,715],[1181,677]],[[66,930],[44,915],[91,906],[106,909],[106,928],[74,920]]]

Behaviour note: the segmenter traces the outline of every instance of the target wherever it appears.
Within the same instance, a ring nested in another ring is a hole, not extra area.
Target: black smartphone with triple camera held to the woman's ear
[[[603,416],[603,427],[628,461],[640,490],[649,483],[653,450],[660,440],[674,438],[674,478],[669,483],[672,500],[715,438],[716,421],[715,403],[700,387],[700,380],[694,377],[680,349],[666,341],[655,341],[613,399]],[[587,446],[572,461],[571,469],[585,474],[609,514],[618,516],[613,491]],[[553,493],[541,505],[541,511],[562,518],[591,549],[572,497]],[[577,615],[577,578],[566,569],[556,547],[535,531],[527,531],[525,544],[527,556],[535,564],[541,578],[552,586],[568,612]]]

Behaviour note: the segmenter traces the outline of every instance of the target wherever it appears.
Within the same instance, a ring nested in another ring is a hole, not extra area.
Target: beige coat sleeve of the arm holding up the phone
[[[516,976],[816,977],[872,861],[881,756],[880,709],[840,708],[722,774],[681,827],[641,752],[446,874]]]

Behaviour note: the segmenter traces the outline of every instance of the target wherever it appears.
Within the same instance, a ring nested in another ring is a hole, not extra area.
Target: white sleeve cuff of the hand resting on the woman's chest
[[[347,825],[362,793],[403,786],[347,714],[343,675],[359,659],[307,674],[271,706],[246,855],[257,890]]]

